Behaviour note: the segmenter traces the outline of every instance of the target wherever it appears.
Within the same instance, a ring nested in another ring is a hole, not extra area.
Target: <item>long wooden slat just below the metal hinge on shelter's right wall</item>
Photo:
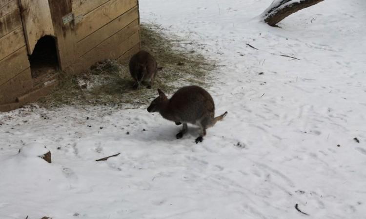
[[[77,41],[89,36],[105,24],[137,5],[137,0],[110,0],[85,15],[76,26]]]

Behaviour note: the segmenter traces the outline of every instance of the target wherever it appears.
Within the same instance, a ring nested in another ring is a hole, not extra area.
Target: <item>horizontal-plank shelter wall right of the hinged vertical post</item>
[[[124,60],[128,52],[140,49],[137,0],[73,0],[72,5],[73,13],[83,15],[75,26],[78,60],[71,67],[73,73],[106,58]]]

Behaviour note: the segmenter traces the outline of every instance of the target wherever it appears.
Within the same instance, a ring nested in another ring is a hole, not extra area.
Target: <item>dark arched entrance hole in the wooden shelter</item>
[[[29,55],[29,62],[33,79],[57,73],[60,66],[56,39],[52,36],[41,37],[32,55]]]

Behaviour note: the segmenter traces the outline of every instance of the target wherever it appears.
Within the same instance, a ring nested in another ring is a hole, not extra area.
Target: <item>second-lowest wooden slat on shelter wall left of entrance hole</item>
[[[0,61],[0,86],[29,68],[29,66],[26,46],[2,59]]]

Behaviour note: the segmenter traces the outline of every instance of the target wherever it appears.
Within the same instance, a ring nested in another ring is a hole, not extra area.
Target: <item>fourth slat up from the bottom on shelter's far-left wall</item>
[[[6,6],[5,6],[6,7]],[[10,13],[0,18],[0,38],[21,26],[19,9],[16,7]]]

